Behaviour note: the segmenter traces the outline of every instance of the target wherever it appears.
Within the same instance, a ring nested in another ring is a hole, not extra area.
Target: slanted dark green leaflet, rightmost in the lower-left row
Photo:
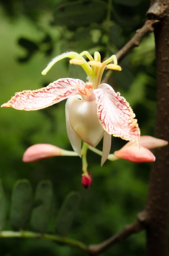
[[[56,232],[62,236],[68,234],[80,204],[80,194],[72,191],[66,196],[57,215]]]

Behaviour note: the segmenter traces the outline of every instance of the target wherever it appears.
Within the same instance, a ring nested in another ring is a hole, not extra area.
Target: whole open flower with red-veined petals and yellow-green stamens
[[[88,81],[59,79],[38,90],[17,92],[2,107],[40,110],[67,99],[66,128],[72,148],[80,157],[82,151],[86,156],[86,151],[81,150],[81,140],[95,147],[103,137],[103,165],[110,153],[111,135],[131,142],[140,138],[137,120],[129,103],[110,85],[101,83],[105,67],[119,71],[121,67],[117,65],[115,55],[101,62],[99,52],[94,52],[94,58],[87,51],[81,54],[67,52],[55,57],[42,74],[45,75],[57,61],[66,57],[70,58],[71,64],[81,65],[88,75]],[[114,63],[110,63],[112,61]]]

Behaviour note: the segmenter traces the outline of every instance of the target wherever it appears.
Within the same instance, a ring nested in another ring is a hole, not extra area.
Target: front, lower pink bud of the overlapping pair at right
[[[114,155],[134,163],[152,162],[156,159],[149,149],[143,147],[139,148],[136,145],[123,147],[115,151]]]

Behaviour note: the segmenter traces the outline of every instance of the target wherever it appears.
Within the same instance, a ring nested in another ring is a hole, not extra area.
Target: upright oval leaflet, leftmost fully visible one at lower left
[[[32,195],[32,187],[28,180],[18,180],[15,183],[11,199],[11,225],[14,229],[23,229],[29,220]]]

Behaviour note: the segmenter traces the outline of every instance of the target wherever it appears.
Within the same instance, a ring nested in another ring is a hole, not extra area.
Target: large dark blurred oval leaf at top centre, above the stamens
[[[105,18],[106,9],[105,2],[99,0],[68,2],[61,4],[54,12],[54,23],[68,27],[90,25],[101,22]]]

